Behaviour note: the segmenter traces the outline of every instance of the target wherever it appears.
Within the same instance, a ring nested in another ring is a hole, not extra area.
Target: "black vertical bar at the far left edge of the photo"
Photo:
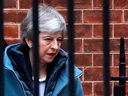
[[[0,2],[0,96],[4,96],[4,69],[3,69],[3,0]]]

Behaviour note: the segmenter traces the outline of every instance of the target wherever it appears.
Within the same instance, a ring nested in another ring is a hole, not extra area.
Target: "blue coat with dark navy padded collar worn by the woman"
[[[22,44],[6,47],[4,52],[5,96],[33,96],[32,68],[28,52],[29,48]],[[82,72],[77,67],[74,68],[76,96],[84,96],[79,79]],[[68,96],[68,56],[62,49],[54,61],[48,64],[47,71],[45,96]]]

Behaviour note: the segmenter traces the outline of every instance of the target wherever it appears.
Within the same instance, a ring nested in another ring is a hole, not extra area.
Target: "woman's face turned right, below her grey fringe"
[[[40,63],[51,63],[57,56],[61,43],[61,32],[48,34],[40,32],[39,34],[39,61]]]

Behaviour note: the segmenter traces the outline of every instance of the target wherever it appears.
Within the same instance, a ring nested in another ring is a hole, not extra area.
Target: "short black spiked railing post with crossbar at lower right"
[[[114,95],[113,96],[126,96],[126,63],[125,63],[125,46],[124,38],[120,39],[120,56],[119,56],[119,77],[111,77],[111,80],[119,81],[119,85],[114,86]]]

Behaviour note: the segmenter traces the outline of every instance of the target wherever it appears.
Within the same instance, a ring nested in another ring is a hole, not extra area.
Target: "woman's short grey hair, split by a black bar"
[[[39,32],[56,33],[61,32],[65,35],[67,32],[66,23],[62,15],[51,6],[39,4]],[[32,8],[21,23],[21,39],[25,43],[25,37],[33,40],[33,21]]]

